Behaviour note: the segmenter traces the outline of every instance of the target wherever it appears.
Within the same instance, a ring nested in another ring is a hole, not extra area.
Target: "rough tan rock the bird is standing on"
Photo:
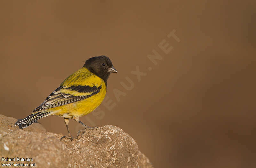
[[[23,130],[13,126],[17,119],[0,115],[0,155],[4,158],[33,158],[33,161],[1,163],[36,163],[36,167],[153,168],[138,150],[133,138],[121,128],[106,125],[82,130],[73,141],[62,134],[46,132],[34,123]]]

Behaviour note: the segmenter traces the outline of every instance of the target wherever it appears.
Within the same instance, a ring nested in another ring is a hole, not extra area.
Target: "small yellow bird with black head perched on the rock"
[[[40,118],[57,115],[64,118],[68,130],[69,119],[81,123],[86,129],[92,129],[79,120],[100,106],[107,92],[107,80],[110,73],[117,73],[107,56],[101,55],[88,59],[81,69],[66,78],[44,102],[16,125],[26,128]]]

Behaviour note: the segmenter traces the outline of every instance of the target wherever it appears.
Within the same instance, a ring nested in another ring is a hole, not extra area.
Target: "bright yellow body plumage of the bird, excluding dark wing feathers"
[[[61,86],[78,86],[78,85],[89,85],[90,87],[96,86],[99,87],[101,85],[100,92],[98,94],[93,95],[87,99],[77,101],[74,103],[70,103],[63,106],[53,107],[47,109],[47,112],[53,112],[51,115],[60,115],[65,118],[73,118],[81,117],[88,113],[91,113],[95,108],[100,106],[101,102],[105,98],[106,95],[106,84],[100,77],[94,75],[87,68],[81,68],[72,75],[70,75]],[[80,93],[78,91],[71,91],[66,89],[61,89],[60,92],[72,94],[74,96],[84,96],[89,95],[89,93]],[[36,113],[36,112],[35,112]]]

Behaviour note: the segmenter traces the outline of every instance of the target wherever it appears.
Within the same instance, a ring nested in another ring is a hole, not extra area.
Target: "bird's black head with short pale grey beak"
[[[98,77],[102,78],[106,83],[110,73],[117,73],[110,59],[105,56],[96,56],[85,61],[84,67]]]

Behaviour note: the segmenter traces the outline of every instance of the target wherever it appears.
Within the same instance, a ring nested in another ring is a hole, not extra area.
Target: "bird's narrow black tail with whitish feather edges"
[[[46,117],[50,113],[51,112],[41,111],[41,112],[30,114],[29,116],[25,117],[24,119],[22,119],[20,121],[18,120],[15,123],[15,126],[21,124],[22,128],[26,128],[26,127],[30,126],[31,124],[33,124],[34,122],[36,122],[37,120],[39,120],[40,118]]]

